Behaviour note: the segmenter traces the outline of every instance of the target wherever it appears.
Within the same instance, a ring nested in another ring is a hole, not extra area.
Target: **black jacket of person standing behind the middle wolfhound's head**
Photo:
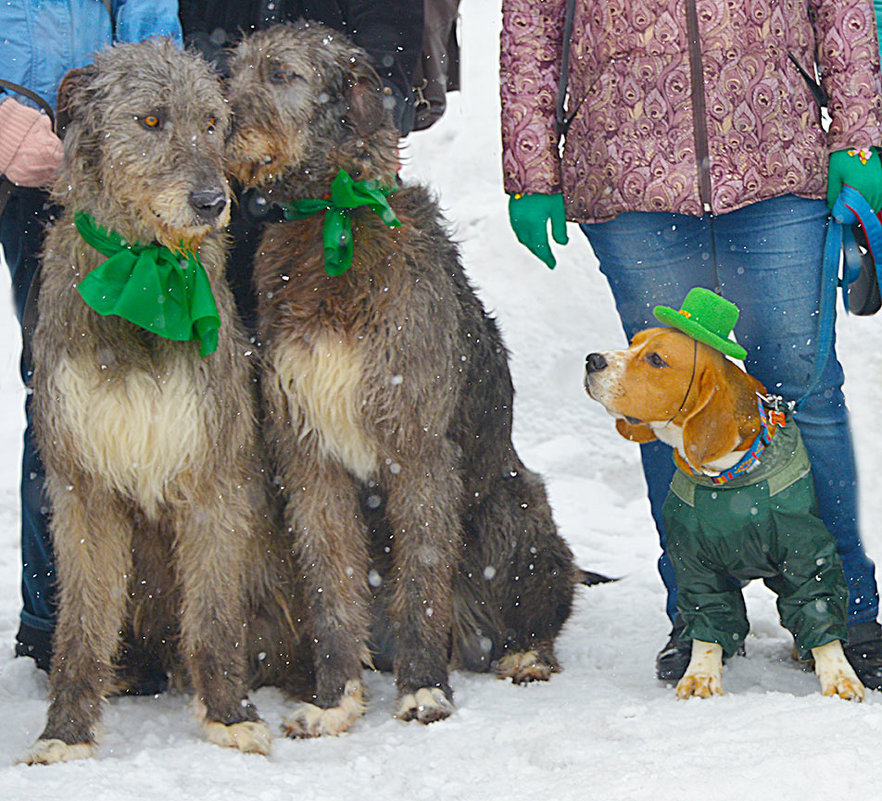
[[[180,0],[184,41],[210,60],[248,31],[300,18],[342,31],[371,56],[395,95],[395,122],[413,127],[413,74],[422,50],[422,0]]]

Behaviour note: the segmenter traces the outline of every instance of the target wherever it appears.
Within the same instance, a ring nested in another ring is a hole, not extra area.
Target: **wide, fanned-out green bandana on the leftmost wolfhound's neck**
[[[115,314],[166,339],[198,340],[201,356],[217,350],[220,315],[195,252],[129,244],[82,211],[74,215],[74,224],[89,245],[108,257],[77,286],[98,314]]]

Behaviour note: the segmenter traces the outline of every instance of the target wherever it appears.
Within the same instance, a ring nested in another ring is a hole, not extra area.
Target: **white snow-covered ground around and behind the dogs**
[[[267,758],[207,744],[174,694],[113,699],[96,758],[13,765],[40,733],[46,679],[12,658],[19,611],[18,458],[23,393],[13,314],[0,315],[0,799],[4,801],[502,801],[548,798],[810,801],[873,798],[882,787],[882,693],[861,705],[822,698],[789,658],[762,585],[748,588],[747,658],[727,694],[678,701],[653,674],[667,635],[657,541],[637,449],[581,388],[585,354],[623,344],[612,299],[583,237],[556,247],[549,272],[510,233],[498,134],[499,0],[463,0],[464,89],[446,116],[410,137],[409,177],[437,188],[470,273],[497,315],[517,388],[516,443],[544,473],[557,522],[585,567],[621,580],[579,593],[548,684],[452,677],[457,712],[428,727],[391,717],[388,675],[370,674],[371,707],[352,730],[279,739]],[[7,283],[6,271],[0,281]],[[8,287],[2,290],[8,293]],[[878,387],[882,317],[840,321],[862,475],[864,537],[882,560]],[[254,694],[274,727],[287,702]],[[877,789],[873,789],[877,788]]]

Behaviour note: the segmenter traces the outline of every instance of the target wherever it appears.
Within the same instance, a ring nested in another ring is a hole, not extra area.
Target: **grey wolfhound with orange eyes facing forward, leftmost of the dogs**
[[[108,49],[59,93],[64,211],[46,237],[33,390],[60,600],[29,763],[89,756],[102,699],[144,660],[192,685],[210,741],[270,747],[246,652],[271,631],[265,613],[292,643],[297,615],[267,512],[250,346],[223,277],[226,108],[208,65],[169,42]],[[86,304],[77,286],[106,254],[79,235],[81,211],[129,243],[198,252],[221,321],[214,352]],[[272,661],[284,648],[274,635],[264,650]]]

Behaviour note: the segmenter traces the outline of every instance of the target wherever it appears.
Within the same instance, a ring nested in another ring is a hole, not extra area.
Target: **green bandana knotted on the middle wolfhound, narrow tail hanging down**
[[[325,212],[322,241],[325,248],[325,272],[343,275],[352,266],[352,209],[367,206],[389,228],[401,225],[386,200],[393,189],[377,181],[353,181],[346,170],[340,170],[331,184],[330,198],[305,198],[293,203],[280,203],[289,220],[302,220],[320,211]]]

